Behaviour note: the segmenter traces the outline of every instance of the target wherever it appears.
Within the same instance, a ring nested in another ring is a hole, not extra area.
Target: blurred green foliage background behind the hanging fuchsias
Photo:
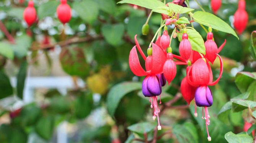
[[[27,1],[0,1],[1,30],[5,27],[15,39],[15,43],[10,43],[0,31],[1,143],[58,142],[58,132],[62,130],[58,126],[63,122],[68,143],[130,143],[143,142],[145,137],[148,141],[154,139],[156,122],[152,122],[148,98],[141,93],[143,77],[136,77],[130,71],[128,56],[136,34],[146,52],[160,25],[161,15],[153,13],[149,21],[150,32],[145,36],[141,27],[150,10],[128,4],[117,5],[117,2],[68,0],[72,18],[63,26],[56,16],[60,2],[34,0],[38,21],[28,28],[23,20]],[[189,2],[191,8],[199,10],[194,0]],[[209,0],[199,2],[211,12]],[[217,16],[232,25],[237,2],[222,0]],[[255,5],[255,0],[246,0],[249,23],[240,40],[213,31],[218,46],[227,40],[220,53],[224,74],[219,84],[211,87],[214,104],[209,108],[209,132],[214,143],[226,142],[225,137],[228,140],[230,136],[243,138],[243,135],[235,134],[243,131],[244,121],[255,122],[248,116],[250,111],[243,110],[248,108],[246,105],[235,104],[239,102],[235,102],[236,99],[254,100],[256,94],[255,74],[248,73],[256,69],[250,38],[256,29]],[[206,40],[206,32],[198,24],[194,26]],[[256,41],[255,37],[252,40]],[[175,54],[178,54],[178,44],[178,39],[173,39]],[[213,65],[216,76],[219,75],[218,63],[215,61]],[[161,113],[162,130],[157,132],[159,143],[207,142],[201,108],[198,108],[198,117],[194,117],[194,102],[188,106],[180,94],[179,85],[185,74],[185,66],[177,66],[175,80],[163,89],[162,107],[165,108],[164,104],[169,101],[173,103]],[[29,81],[25,82],[25,79],[39,76],[71,76],[73,87],[64,93],[58,88],[34,89],[32,101],[27,101],[23,93]],[[85,84],[80,86],[79,81]],[[230,99],[233,103],[228,102]],[[225,136],[227,132],[229,134]]]

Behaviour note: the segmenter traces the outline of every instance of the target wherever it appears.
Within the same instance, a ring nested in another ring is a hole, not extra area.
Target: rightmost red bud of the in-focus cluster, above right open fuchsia
[[[212,40],[212,38],[213,38],[213,34],[212,32],[209,32],[207,34],[207,41],[204,43],[204,46],[206,48],[205,57],[213,64],[213,62],[217,57],[216,54],[218,53],[218,47],[216,43]]]

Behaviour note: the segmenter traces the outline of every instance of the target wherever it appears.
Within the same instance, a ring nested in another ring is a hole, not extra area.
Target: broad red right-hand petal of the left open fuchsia
[[[156,44],[152,43],[152,69],[151,73],[159,74],[163,72],[163,66],[166,61],[164,51]]]

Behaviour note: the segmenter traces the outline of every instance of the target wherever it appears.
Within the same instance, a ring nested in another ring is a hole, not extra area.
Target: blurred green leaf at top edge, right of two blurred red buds
[[[83,21],[89,24],[92,24],[99,14],[99,6],[94,0],[76,1],[73,3],[73,9]]]

